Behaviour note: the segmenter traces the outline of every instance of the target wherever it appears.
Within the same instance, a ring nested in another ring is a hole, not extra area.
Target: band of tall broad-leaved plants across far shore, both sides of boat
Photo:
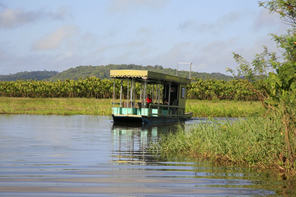
[[[187,86],[189,99],[228,99],[228,100],[257,100],[256,94],[245,87],[243,80],[223,81],[216,79],[194,79]],[[31,98],[60,98],[60,97],[85,97],[85,98],[112,98],[113,80],[86,77],[85,79],[37,81],[17,80],[0,81],[0,96],[5,97],[31,97]],[[126,97],[127,82],[123,81],[123,97]],[[136,98],[139,98],[140,84],[136,84]],[[120,95],[120,80],[115,80],[115,97]]]

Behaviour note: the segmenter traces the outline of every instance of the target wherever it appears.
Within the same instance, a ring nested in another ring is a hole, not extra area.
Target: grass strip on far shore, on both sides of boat
[[[0,97],[0,114],[111,115],[112,99]],[[118,102],[118,101],[117,101]],[[187,100],[186,111],[197,117],[247,117],[263,114],[260,102]]]

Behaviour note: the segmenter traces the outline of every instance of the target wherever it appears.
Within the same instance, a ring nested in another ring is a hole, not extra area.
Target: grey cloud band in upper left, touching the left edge
[[[65,8],[60,8],[56,12],[47,12],[45,10],[25,11],[23,9],[5,8],[0,12],[0,28],[12,29],[46,17],[52,18],[53,20],[63,20],[65,16],[68,15],[67,12]]]

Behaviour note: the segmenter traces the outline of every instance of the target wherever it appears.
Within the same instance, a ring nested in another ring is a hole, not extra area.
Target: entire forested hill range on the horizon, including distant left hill
[[[163,68],[162,66],[155,65],[155,66],[142,66],[142,65],[135,65],[135,64],[109,64],[109,65],[101,65],[101,66],[77,66],[75,68],[69,68],[68,70],[64,70],[63,72],[57,71],[25,71],[19,72],[16,74],[9,74],[9,75],[0,75],[0,81],[15,81],[17,79],[37,79],[37,80],[45,80],[48,79],[49,81],[57,81],[57,80],[66,80],[72,79],[77,80],[78,78],[86,78],[86,77],[93,77],[96,76],[100,79],[110,79],[110,70],[149,70],[159,73],[171,74],[176,75],[176,69],[171,68]],[[189,70],[189,66],[182,68],[183,70]],[[181,77],[189,77],[189,72],[186,71],[179,71],[178,76]],[[233,79],[232,76],[228,76],[221,73],[199,73],[191,71],[191,78],[200,78],[200,79],[218,79],[229,81]]]

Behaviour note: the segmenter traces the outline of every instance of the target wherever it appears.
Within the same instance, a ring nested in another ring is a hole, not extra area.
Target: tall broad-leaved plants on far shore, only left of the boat
[[[120,86],[117,81],[117,87]],[[49,81],[4,81],[0,82],[0,95],[6,97],[59,98],[86,97],[111,98],[113,81],[96,77],[86,79]]]

